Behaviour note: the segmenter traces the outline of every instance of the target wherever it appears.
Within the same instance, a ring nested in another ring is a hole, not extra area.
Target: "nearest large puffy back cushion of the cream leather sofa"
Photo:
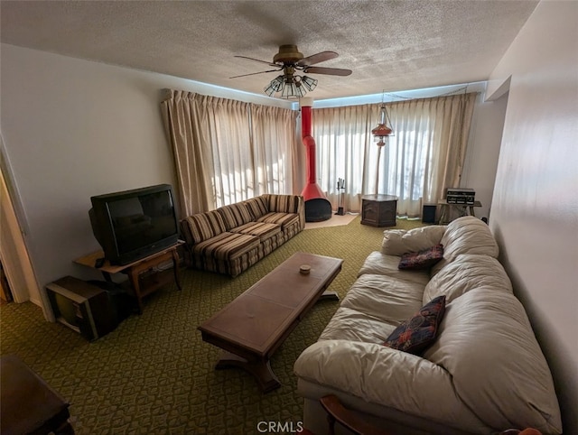
[[[451,375],[455,393],[489,427],[561,433],[550,369],[512,293],[478,288],[449,302],[424,358]]]

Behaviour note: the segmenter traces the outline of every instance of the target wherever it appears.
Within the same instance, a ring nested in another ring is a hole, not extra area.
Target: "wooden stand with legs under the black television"
[[[169,246],[161,252],[148,255],[129,264],[116,265],[110,264],[108,260],[105,260],[102,266],[97,267],[97,260],[104,257],[102,251],[84,255],[74,260],[74,263],[98,269],[108,282],[112,282],[111,275],[113,273],[126,273],[131,290],[135,293],[138,313],[142,314],[144,296],[157,291],[169,282],[175,282],[177,288],[182,290],[179,282],[179,255],[177,254],[177,249],[182,244],[184,242],[179,240],[175,245]],[[172,261],[172,267],[163,270],[158,269],[160,264],[170,261]]]

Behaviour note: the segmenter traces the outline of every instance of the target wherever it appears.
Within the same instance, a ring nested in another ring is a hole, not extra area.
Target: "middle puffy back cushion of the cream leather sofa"
[[[450,303],[463,293],[482,287],[513,292],[508,274],[498,260],[489,255],[458,255],[425,285],[423,302],[445,295]]]

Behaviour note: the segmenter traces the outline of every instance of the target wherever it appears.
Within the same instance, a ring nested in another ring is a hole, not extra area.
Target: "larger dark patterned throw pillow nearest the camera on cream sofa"
[[[435,341],[444,312],[445,295],[433,298],[417,311],[413,318],[407,319],[394,329],[384,346],[420,355]]]

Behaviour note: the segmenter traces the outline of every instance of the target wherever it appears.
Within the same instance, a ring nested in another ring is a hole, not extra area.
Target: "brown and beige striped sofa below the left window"
[[[302,196],[264,194],[181,221],[194,269],[237,276],[305,227]]]

